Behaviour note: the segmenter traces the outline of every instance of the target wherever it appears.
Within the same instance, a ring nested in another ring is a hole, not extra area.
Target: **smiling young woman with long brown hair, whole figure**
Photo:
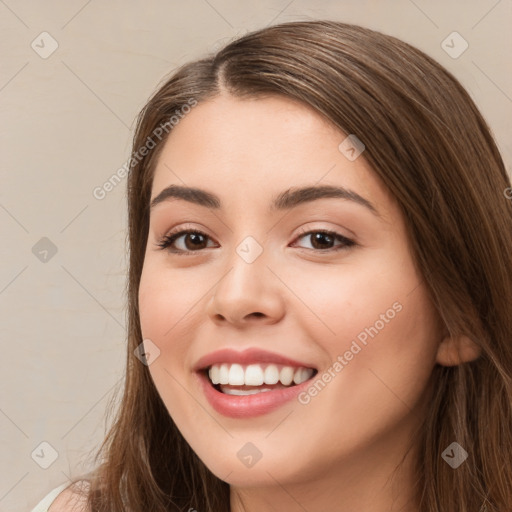
[[[272,26],[176,71],[131,163],[124,396],[50,511],[512,509],[512,189],[450,73]]]

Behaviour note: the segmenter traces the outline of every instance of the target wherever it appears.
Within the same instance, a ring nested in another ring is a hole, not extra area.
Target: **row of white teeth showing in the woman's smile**
[[[240,364],[214,364],[210,367],[208,375],[212,384],[230,386],[262,386],[263,384],[274,385],[279,382],[283,386],[301,384],[312,377],[313,368],[296,368],[292,366],[281,366],[269,364],[267,366],[260,364],[250,364],[242,366]],[[238,390],[239,391],[239,390]],[[244,391],[243,394],[252,394]],[[252,390],[251,390],[252,391]],[[270,391],[268,388],[255,390],[256,392]],[[231,393],[236,394],[236,393]]]

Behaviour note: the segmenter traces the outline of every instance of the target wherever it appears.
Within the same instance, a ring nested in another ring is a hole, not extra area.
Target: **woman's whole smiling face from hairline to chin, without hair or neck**
[[[233,486],[381,470],[421,418],[438,317],[398,206],[346,137],[292,100],[222,95],[173,128],[155,169],[149,371]]]

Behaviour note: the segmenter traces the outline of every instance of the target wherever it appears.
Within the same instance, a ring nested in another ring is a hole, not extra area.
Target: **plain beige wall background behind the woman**
[[[139,109],[179,64],[309,18],[381,30],[445,65],[510,170],[511,0],[0,1],[0,511],[88,469],[103,438],[125,357],[125,182],[103,200],[93,190],[128,158]],[[453,31],[469,44],[456,59],[441,47]],[[58,43],[47,58],[42,32]],[[42,442],[58,453],[47,469]]]

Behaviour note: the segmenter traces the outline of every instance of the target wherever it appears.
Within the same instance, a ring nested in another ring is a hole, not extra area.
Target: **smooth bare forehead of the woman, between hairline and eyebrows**
[[[266,201],[304,185],[341,185],[385,206],[389,198],[363,157],[339,146],[347,134],[312,108],[270,96],[221,95],[173,127],[158,159],[152,198],[169,184]],[[363,153],[364,154],[364,153]]]

